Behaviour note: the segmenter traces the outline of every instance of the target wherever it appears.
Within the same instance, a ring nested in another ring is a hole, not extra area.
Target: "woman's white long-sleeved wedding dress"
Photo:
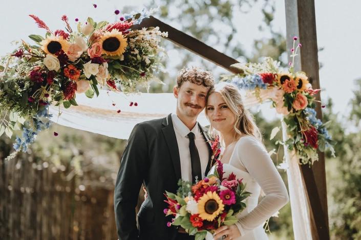
[[[215,171],[212,167],[210,173]],[[223,164],[223,177],[230,173],[243,179],[251,195],[245,200],[246,209],[238,214],[236,223],[241,237],[237,240],[268,239],[263,223],[288,202],[286,186],[264,146],[251,136],[241,137],[228,163]],[[265,196],[258,202],[263,190]],[[206,240],[213,239],[207,234]],[[236,239],[232,239],[236,240]]]

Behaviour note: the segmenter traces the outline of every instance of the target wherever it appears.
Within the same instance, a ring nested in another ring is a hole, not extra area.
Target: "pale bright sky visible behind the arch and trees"
[[[28,39],[30,34],[45,35],[43,29],[36,27],[35,22],[28,15],[37,15],[44,20],[51,29],[62,29],[63,22],[61,15],[66,14],[71,25],[75,18],[86,20],[92,16],[95,21],[108,20],[114,21],[117,17],[114,15],[115,9],[122,9],[129,5],[125,1],[4,1],[2,0],[0,16],[2,16],[0,34],[0,55],[11,52],[15,46],[11,43],[13,40]],[[132,0],[134,10],[141,10],[146,0]],[[285,7],[284,1],[275,1],[275,18],[273,26],[275,31],[286,34]],[[97,4],[97,8],[93,7]],[[258,30],[262,22],[261,13],[262,1],[258,1],[256,6],[252,7],[248,13],[242,13],[239,16],[238,29],[243,33],[238,33],[237,37],[242,39],[242,47],[247,53],[252,53],[254,39],[260,39],[264,33]],[[318,53],[318,61],[323,67],[320,69],[320,84],[323,89],[321,98],[326,100],[332,98],[334,102],[334,112],[339,116],[347,116],[350,108],[347,107],[350,99],[353,97],[354,80],[361,78],[359,69],[361,61],[361,1],[352,0],[316,0],[316,29],[317,44],[324,50]],[[157,16],[157,13],[154,14]],[[179,23],[178,23],[179,24]],[[175,25],[175,27],[177,27]],[[302,42],[302,39],[301,39]],[[217,48],[217,47],[216,47]],[[177,50],[168,53],[169,60],[177,58]],[[174,71],[169,64],[168,71]],[[178,70],[178,69],[176,69]],[[261,107],[263,115],[271,119],[275,117],[273,110],[268,106]]]

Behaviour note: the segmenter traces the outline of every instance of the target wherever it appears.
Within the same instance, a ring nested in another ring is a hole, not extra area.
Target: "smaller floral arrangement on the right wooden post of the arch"
[[[297,40],[298,37],[293,37],[292,62],[288,69],[281,69],[280,62],[266,58],[263,63],[233,64],[241,73],[224,76],[222,80],[256,95],[260,103],[271,101],[277,113],[283,114],[287,125],[288,139],[278,140],[277,144],[294,149],[300,163],[312,164],[318,160],[316,150],[324,152],[328,148],[334,156],[334,141],[327,131],[330,122],[322,123],[314,110],[314,95],[321,89],[312,89],[306,73],[294,71],[294,57],[302,47],[301,43],[296,46]],[[263,99],[262,96],[267,97]],[[271,138],[279,130],[278,127],[273,129]]]

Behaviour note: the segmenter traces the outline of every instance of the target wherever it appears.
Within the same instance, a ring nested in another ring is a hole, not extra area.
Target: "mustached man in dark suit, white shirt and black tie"
[[[121,158],[114,191],[115,219],[120,240],[194,239],[184,229],[167,227],[165,190],[176,193],[180,178],[201,179],[208,171],[211,150],[197,123],[206,95],[214,87],[210,71],[185,68],[173,89],[176,114],[137,124]],[[161,103],[158,103],[161,108]],[[135,207],[141,184],[147,190],[136,224]]]

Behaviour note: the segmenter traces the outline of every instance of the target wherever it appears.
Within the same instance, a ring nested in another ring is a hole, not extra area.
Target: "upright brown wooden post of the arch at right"
[[[314,0],[285,0],[287,48],[291,49],[293,36],[299,36],[302,47],[296,57],[295,70],[307,73],[314,89],[320,88]],[[289,57],[290,60],[290,57]],[[320,93],[316,95],[320,100]],[[317,117],[322,119],[321,105],[316,105]],[[318,162],[312,167],[301,165],[311,215],[314,239],[330,239],[327,213],[325,156],[318,153]]]

